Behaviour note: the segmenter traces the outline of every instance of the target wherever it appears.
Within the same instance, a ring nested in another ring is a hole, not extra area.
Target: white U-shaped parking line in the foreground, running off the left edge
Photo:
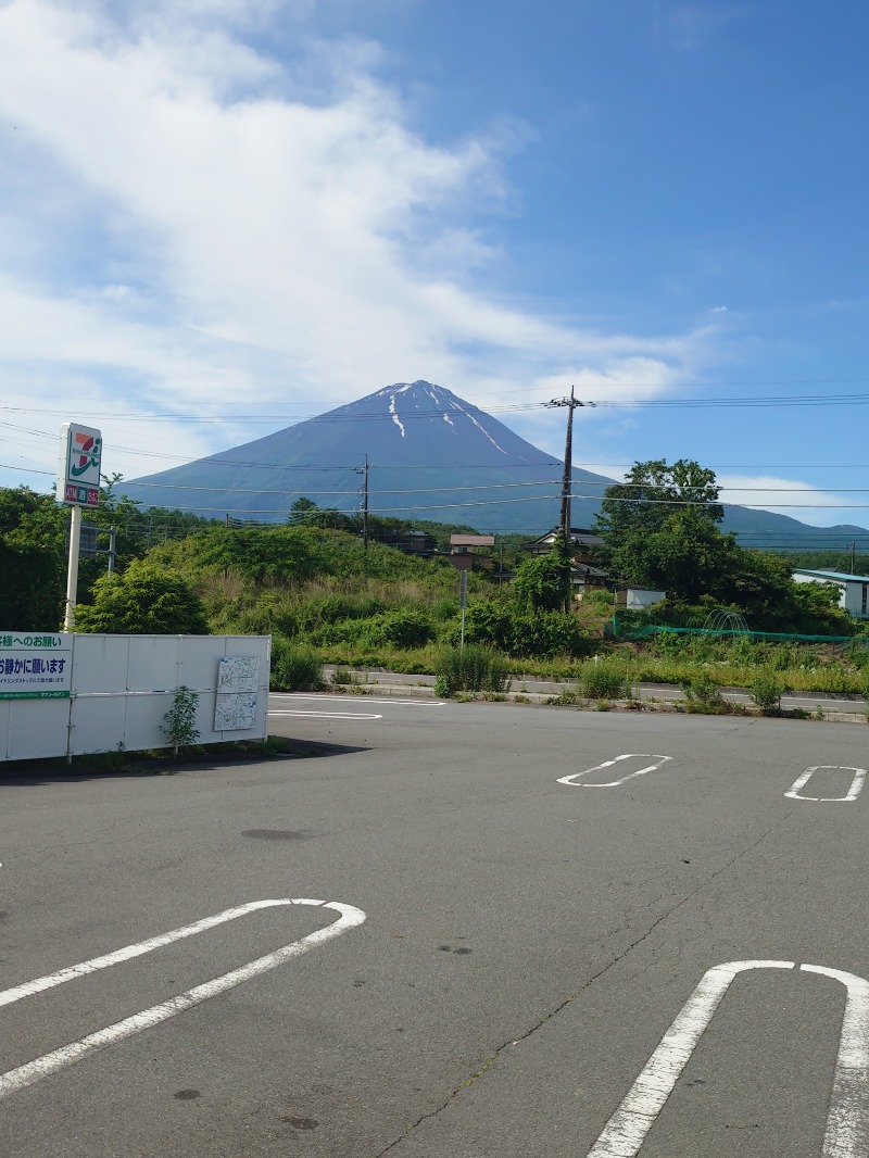
[[[228,989],[234,989],[236,985],[241,985],[262,973],[268,973],[270,969],[275,969],[277,966],[284,965],[286,961],[300,957],[302,953],[307,953],[309,950],[316,948],[316,946],[335,937],[339,937],[350,929],[360,925],[365,921],[366,914],[352,904],[342,904],[338,901],[314,901],[308,897],[250,901],[247,904],[240,904],[234,909],[226,909],[224,913],[217,913],[212,917],[205,917],[181,929],[173,929],[167,933],[161,933],[159,937],[151,937],[148,940],[138,941],[136,945],[126,945],[124,948],[115,950],[114,953],[95,957],[89,961],[81,961],[79,965],[58,969],[56,973],[36,977],[22,985],[16,985],[13,989],[0,992],[0,1005],[10,1005],[13,1002],[32,997],[35,994],[53,989],[56,985],[61,985],[67,981],[87,976],[89,973],[95,973],[98,969],[107,969],[112,965],[119,965],[122,961],[129,961],[144,953],[151,953],[163,945],[182,940],[184,937],[193,937],[197,933],[205,932],[206,929],[213,929],[216,925],[224,924],[227,921],[235,921],[257,909],[291,904],[333,909],[339,916],[330,925],[317,929],[315,932],[308,933],[306,937],[292,941],[290,945],[284,945],[273,953],[266,953],[265,957],[257,958],[255,961],[248,961],[247,965],[242,965],[238,969],[232,969],[220,977],[212,977],[211,981],[196,985],[193,989],[188,989],[187,992],[177,994],[160,1005],[152,1005],[151,1009],[133,1013],[132,1017],[124,1018],[123,1021],[116,1021],[104,1029],[97,1029],[95,1033],[90,1033],[79,1041],[73,1041],[68,1046],[63,1046],[60,1049],[37,1057],[25,1065],[19,1065],[14,1070],[8,1070],[6,1073],[0,1075],[0,1098],[15,1093],[17,1090],[23,1090],[25,1086],[34,1085],[50,1073],[54,1073],[57,1070],[71,1065],[73,1062],[81,1061],[82,1057],[94,1050],[105,1049],[107,1046],[114,1046],[125,1038],[131,1038],[144,1029],[149,1029],[161,1021],[175,1017],[177,1013],[183,1013],[185,1010],[192,1009],[195,1005],[199,1005],[211,997],[217,997]]]

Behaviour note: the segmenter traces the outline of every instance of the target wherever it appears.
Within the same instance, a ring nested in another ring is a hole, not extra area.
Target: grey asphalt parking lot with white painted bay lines
[[[864,727],[271,731],[311,754],[0,783],[5,1156],[867,1153]]]

